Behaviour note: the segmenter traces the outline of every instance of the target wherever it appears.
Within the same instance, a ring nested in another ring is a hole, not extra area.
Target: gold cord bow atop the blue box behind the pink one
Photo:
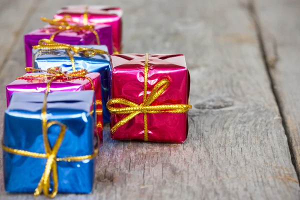
[[[71,53],[71,51],[73,51],[74,53],[81,52],[85,56],[88,56],[88,57],[92,57],[96,54],[106,54],[110,57],[109,53],[105,50],[86,48],[86,47],[81,47],[81,46],[72,46],[70,44],[59,43],[59,42],[53,41],[51,39],[40,39],[38,41],[38,45],[32,46],[32,48],[33,49],[41,49],[41,51],[57,50],[57,49],[66,50],[66,52],[71,60],[71,65],[72,65],[73,71],[76,71],[76,68],[75,68],[74,57],[73,57],[73,54]]]

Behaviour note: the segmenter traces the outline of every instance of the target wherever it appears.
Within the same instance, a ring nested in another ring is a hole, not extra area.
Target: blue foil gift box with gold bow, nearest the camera
[[[94,92],[51,92],[46,101],[44,95],[15,92],[5,110],[5,190],[48,197],[57,191],[89,193],[98,151],[90,114]]]

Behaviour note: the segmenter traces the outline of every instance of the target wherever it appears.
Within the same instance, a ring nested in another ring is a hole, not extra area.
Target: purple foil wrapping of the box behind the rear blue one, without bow
[[[42,28],[33,30],[24,35],[26,66],[32,66],[32,46],[37,45],[40,39],[49,39],[50,36],[57,31],[55,26],[46,25]],[[110,25],[96,25],[94,29],[97,31],[100,44],[106,45],[108,52],[112,51],[112,36]],[[66,30],[54,36],[54,41],[71,45],[97,44],[95,34],[91,31],[73,31]]]

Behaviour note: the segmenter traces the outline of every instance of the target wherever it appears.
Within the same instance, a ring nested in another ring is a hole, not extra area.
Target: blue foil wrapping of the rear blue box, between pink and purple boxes
[[[76,45],[80,47],[95,48],[107,51],[105,45]],[[95,54],[94,56],[86,56],[84,53],[73,53],[75,67],[77,69],[86,69],[88,72],[98,72],[101,74],[101,91],[102,91],[102,109],[103,122],[109,123],[109,111],[106,108],[106,102],[110,98],[110,77],[111,63],[110,57],[106,54]],[[37,69],[47,70],[49,67],[60,66],[62,71],[72,71],[71,61],[67,51],[59,50],[40,50],[33,49],[32,66]]]

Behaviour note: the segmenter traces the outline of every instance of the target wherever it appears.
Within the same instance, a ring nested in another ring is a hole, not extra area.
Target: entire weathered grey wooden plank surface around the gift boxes
[[[184,53],[193,108],[184,144],[112,141],[106,127],[93,192],[56,199],[300,198],[299,0],[0,0],[1,113],[23,34],[82,3],[123,8],[124,52]],[[2,173],[0,199],[33,198],[5,193]]]

